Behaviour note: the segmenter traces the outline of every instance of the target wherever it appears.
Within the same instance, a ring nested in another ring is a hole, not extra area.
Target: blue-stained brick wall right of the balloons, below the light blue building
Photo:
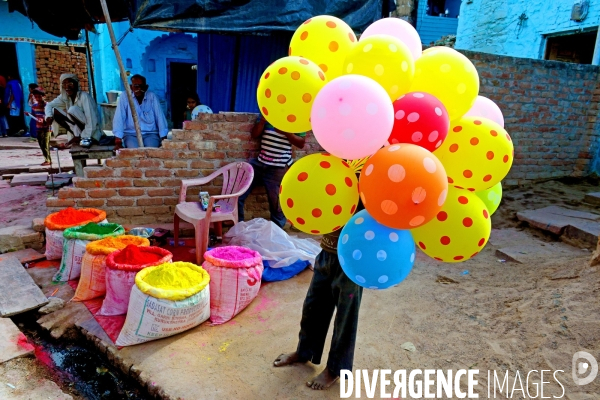
[[[505,184],[593,172],[600,130],[600,67],[461,51],[479,72],[515,144]]]

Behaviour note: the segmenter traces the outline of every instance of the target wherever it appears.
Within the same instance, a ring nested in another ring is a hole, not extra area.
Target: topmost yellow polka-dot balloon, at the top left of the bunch
[[[344,59],[356,43],[356,35],[348,24],[330,15],[319,15],[296,29],[289,55],[314,61],[332,80],[343,74]]]

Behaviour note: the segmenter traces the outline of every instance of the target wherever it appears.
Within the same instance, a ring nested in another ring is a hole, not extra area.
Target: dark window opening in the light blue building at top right
[[[598,31],[574,35],[550,36],[546,40],[544,59],[591,64]]]

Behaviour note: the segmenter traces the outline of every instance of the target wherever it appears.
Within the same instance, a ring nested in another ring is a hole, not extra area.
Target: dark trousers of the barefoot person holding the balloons
[[[337,254],[319,253],[302,307],[297,349],[302,360],[321,363],[329,323],[337,308],[327,368],[337,376],[342,369],[352,370],[362,290],[346,276]]]

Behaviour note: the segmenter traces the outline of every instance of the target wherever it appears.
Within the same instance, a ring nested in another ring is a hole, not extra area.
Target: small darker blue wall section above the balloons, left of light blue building
[[[449,15],[456,17],[458,14],[460,0],[446,0],[446,8]],[[429,45],[442,36],[456,34],[459,18],[434,17],[427,15],[427,0],[420,0],[417,8],[417,32],[421,36],[421,43]],[[462,15],[461,15],[462,18]]]

